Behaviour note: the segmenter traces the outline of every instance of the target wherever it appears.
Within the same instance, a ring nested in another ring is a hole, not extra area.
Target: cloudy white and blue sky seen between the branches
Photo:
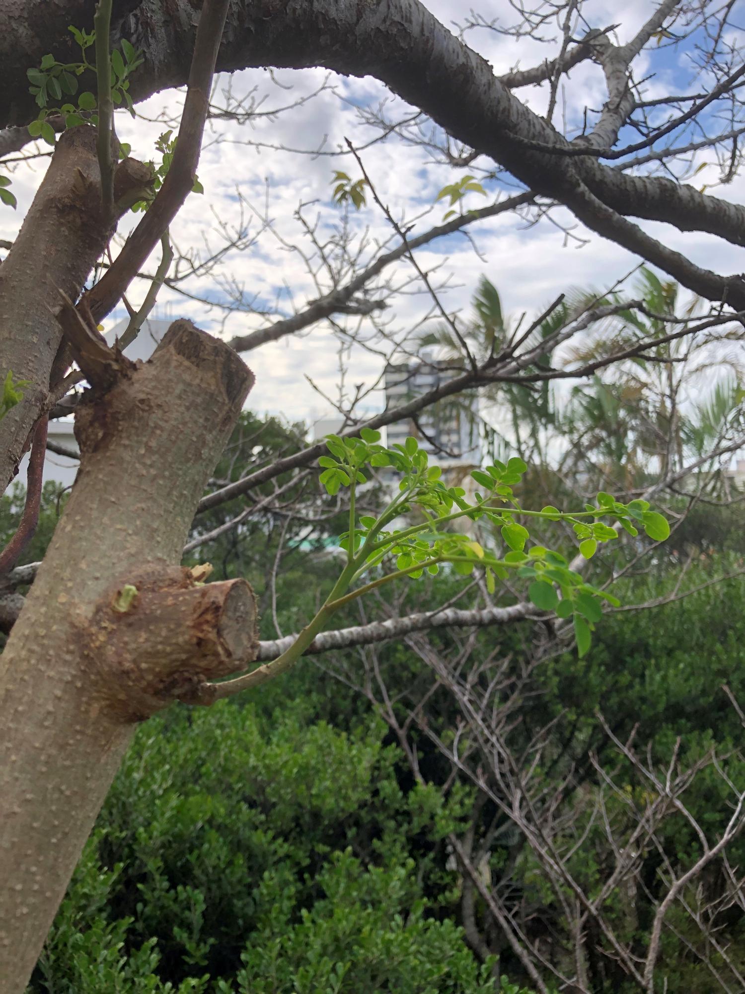
[[[425,0],[425,5],[448,26],[456,21],[462,23],[465,17],[466,8],[458,0]],[[650,16],[652,7],[650,0],[628,0],[624,4],[624,22],[618,28],[621,42],[633,36]],[[486,20],[500,18],[505,25],[512,23],[515,16],[508,0],[491,0],[476,9]],[[593,27],[605,27],[617,22],[621,16],[618,4],[610,0],[588,3],[585,13],[588,19],[591,18]],[[580,27],[577,33],[581,34],[583,30]],[[544,35],[556,37],[555,25],[549,25]],[[466,40],[498,73],[516,66],[527,68],[556,53],[553,46],[544,47],[529,40],[516,41],[488,30],[470,31]],[[670,49],[662,56],[654,53],[643,59],[642,65],[638,64],[637,76],[656,74],[646,83],[648,97],[670,92],[671,87],[681,91],[680,87],[690,85],[692,76],[685,51]],[[227,281],[242,290],[245,300],[271,311],[274,318],[289,316],[293,307],[302,308],[305,301],[318,295],[303,257],[304,254],[312,255],[313,246],[308,232],[295,217],[298,206],[301,203],[309,205],[305,208],[305,217],[311,225],[317,226],[315,238],[319,242],[334,238],[335,230],[345,222],[345,215],[331,203],[333,172],[344,170],[355,179],[360,176],[360,169],[346,151],[344,140],[349,137],[359,147],[375,134],[373,129],[361,125],[357,107],[376,106],[386,100],[386,113],[390,117],[402,116],[410,108],[372,79],[330,77],[321,70],[281,71],[273,76],[256,70],[235,74],[229,81],[221,78],[216,103],[222,102],[221,91],[228,83],[233,98],[252,94],[261,115],[244,125],[213,122],[199,168],[205,195],[189,198],[172,228],[172,235],[180,248],[193,246],[203,254],[207,252],[207,246],[220,248],[223,243],[221,224],[229,229],[238,223],[239,191],[245,220],[256,240],[240,252],[228,253],[219,269],[199,280],[191,280],[185,288],[210,299],[224,299]],[[294,109],[276,115],[267,113],[296,103],[324,85],[326,88],[318,95]],[[545,106],[545,87],[522,89],[519,95],[537,111]],[[585,62],[572,71],[559,101],[570,136],[572,126],[577,126],[581,120],[585,105],[599,107],[604,96],[604,81],[597,66]],[[154,141],[164,130],[157,118],[176,112],[179,99],[179,94],[171,92],[141,104],[138,109],[149,120],[131,121],[126,114],[118,114],[117,131],[120,138],[131,143],[133,155],[142,159],[154,157]],[[468,113],[468,107],[464,106],[463,112]],[[302,154],[302,150],[313,152],[318,149],[324,154]],[[45,151],[45,146],[41,145],[39,150]],[[453,170],[432,163],[426,149],[405,144],[396,137],[372,144],[362,155],[380,198],[397,220],[408,219],[410,223],[423,211],[429,211],[428,217],[416,223],[414,235],[441,222],[446,208],[442,203],[432,206],[438,191],[466,173],[465,169]],[[40,158],[16,170],[13,190],[19,199],[19,209],[15,213],[8,209],[0,212],[1,238],[14,237],[47,163],[48,159]],[[476,165],[489,168],[486,159],[479,160]],[[694,182],[713,182],[715,177],[716,170],[706,167]],[[504,182],[488,184],[488,200],[475,197],[469,206],[484,206],[517,189]],[[727,198],[738,202],[744,193],[738,180],[725,191]],[[261,217],[268,217],[271,223],[270,229],[263,232]],[[556,215],[557,219],[559,217]],[[570,219],[565,216],[564,220]],[[369,248],[364,252],[365,258],[372,257],[375,244],[390,239],[390,226],[370,198],[362,211],[350,214],[347,223],[358,238],[366,240]],[[745,270],[742,249],[702,235],[682,235],[664,226],[650,225],[648,229],[699,263],[722,272]],[[126,230],[127,224],[123,224],[120,233]],[[520,314],[523,310],[532,313],[572,286],[602,289],[638,262],[625,250],[589,236],[580,228],[575,228],[575,234],[581,238],[581,243],[567,240],[562,231],[549,222],[528,229],[516,216],[507,216],[478,226],[474,232],[478,254],[467,239],[453,236],[446,243],[434,243],[419,250],[417,260],[424,269],[439,265],[435,279],[441,282],[447,278],[449,282],[450,289],[442,299],[450,311],[460,308],[464,315],[468,314],[469,300],[479,276],[484,273],[499,288],[506,313]],[[157,259],[153,259],[152,269],[156,263]],[[313,265],[318,265],[317,259],[311,259]],[[395,282],[405,283],[411,277],[410,265],[400,262],[394,273]],[[323,272],[320,275],[323,278]],[[409,286],[409,290],[413,288]],[[144,283],[133,288],[131,299],[134,303],[139,302],[144,290]],[[410,331],[430,308],[431,301],[426,294],[398,295],[393,306],[385,312],[387,330],[398,336]],[[105,326],[112,327],[122,313],[119,311],[109,317]],[[248,312],[236,312],[225,319],[224,312],[218,308],[209,308],[174,292],[164,292],[155,316],[182,315],[227,336],[244,334],[266,323],[265,318]],[[262,346],[245,358],[256,374],[250,406],[261,412],[308,421],[333,413],[328,403],[314,391],[308,378],[322,391],[336,397],[340,364],[345,368],[348,386],[372,385],[382,366],[380,355],[360,347],[340,356],[338,342],[326,326],[317,327],[302,337],[290,336]],[[366,401],[366,408],[374,410],[381,401],[379,392],[373,393]]]

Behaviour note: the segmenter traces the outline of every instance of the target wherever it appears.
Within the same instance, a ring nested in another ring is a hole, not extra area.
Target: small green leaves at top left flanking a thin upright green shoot
[[[55,144],[55,129],[47,119],[51,114],[62,114],[66,127],[74,127],[84,121],[98,123],[95,94],[89,90],[77,92],[78,77],[85,72],[95,72],[95,67],[88,62],[85,54],[95,42],[95,32],[79,31],[73,25],[70,31],[80,47],[79,62],[61,63],[50,54],[44,56],[38,68],[26,72],[31,83],[29,92],[40,107],[39,116],[29,124],[29,134],[32,138],[42,138],[48,145]],[[134,106],[129,95],[129,77],[143,61],[142,52],[126,39],[122,39],[121,51],[114,49],[111,53],[111,99],[117,105],[126,105],[132,117]],[[66,96],[74,97],[74,102],[66,100],[63,103]]]

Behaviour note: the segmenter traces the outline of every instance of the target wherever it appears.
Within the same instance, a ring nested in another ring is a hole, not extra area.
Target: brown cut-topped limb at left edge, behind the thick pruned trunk
[[[150,169],[125,159],[116,192],[142,188]],[[122,205],[122,213],[127,207]],[[29,432],[47,402],[52,364],[62,332],[50,308],[59,309],[58,287],[76,299],[95,260],[113,234],[100,214],[95,129],[67,131],[26,215],[13,248],[0,266],[0,374],[13,371],[31,387],[0,421],[0,492],[13,479]]]

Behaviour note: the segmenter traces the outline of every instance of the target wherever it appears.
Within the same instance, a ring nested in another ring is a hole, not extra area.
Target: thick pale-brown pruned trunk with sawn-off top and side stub
[[[248,585],[179,567],[252,383],[177,321],[75,414],[73,494],[0,658],[3,994],[25,990],[137,721],[255,656]]]

